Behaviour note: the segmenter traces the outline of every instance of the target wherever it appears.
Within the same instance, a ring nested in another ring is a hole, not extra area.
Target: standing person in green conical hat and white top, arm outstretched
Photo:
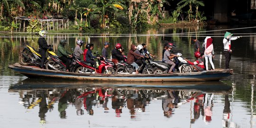
[[[224,54],[225,54],[225,58],[226,58],[226,69],[229,69],[229,62],[231,60],[231,40],[236,40],[238,38],[241,38],[242,36],[239,37],[231,37],[233,34],[230,32],[226,32],[224,35],[224,39],[223,39],[223,45],[224,45]]]

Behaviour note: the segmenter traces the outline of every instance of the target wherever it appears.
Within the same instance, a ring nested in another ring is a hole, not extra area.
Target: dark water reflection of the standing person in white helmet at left
[[[40,91],[41,102],[39,103],[39,112],[38,116],[40,117],[40,123],[46,123],[46,112],[48,111],[47,103],[46,103],[46,93],[45,91]]]

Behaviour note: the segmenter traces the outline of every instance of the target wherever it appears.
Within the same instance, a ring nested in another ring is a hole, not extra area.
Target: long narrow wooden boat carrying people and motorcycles
[[[18,63],[10,64],[9,68],[28,78],[51,78],[82,81],[120,81],[120,82],[191,82],[191,81],[219,81],[233,73],[232,69],[215,69],[211,71],[192,73],[165,74],[89,74],[70,73],[40,69],[36,66],[23,66]]]

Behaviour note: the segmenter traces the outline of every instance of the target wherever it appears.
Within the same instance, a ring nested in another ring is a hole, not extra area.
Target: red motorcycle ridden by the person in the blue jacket
[[[86,63],[84,61],[76,60],[76,66],[75,66],[75,73],[94,73],[94,67],[93,65]],[[100,56],[100,59],[98,59],[97,63],[97,68],[96,71],[97,73],[103,73],[103,74],[114,74],[115,69],[114,69],[114,64],[110,61],[106,61],[106,59],[103,56]]]

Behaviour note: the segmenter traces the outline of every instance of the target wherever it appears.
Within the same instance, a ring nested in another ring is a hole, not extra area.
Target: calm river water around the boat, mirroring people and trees
[[[89,35],[90,39],[81,34],[48,34],[46,40],[56,51],[58,41],[66,38],[72,51],[75,40],[82,38],[99,53],[105,41],[110,42],[109,53],[115,43],[127,53],[131,44],[145,43],[158,60],[165,42],[174,42],[175,52],[193,60],[190,36],[197,36],[201,44],[211,36],[215,68],[225,68],[225,31],[210,30],[239,27],[244,26],[166,27],[132,33],[137,36],[104,33]],[[198,31],[205,32],[193,33]],[[229,32],[243,36],[231,42],[233,75],[220,82],[160,83],[28,79],[8,64],[18,62],[23,46],[37,48],[37,35],[0,33],[0,128],[255,128],[256,29]],[[179,33],[183,35],[173,35]]]

